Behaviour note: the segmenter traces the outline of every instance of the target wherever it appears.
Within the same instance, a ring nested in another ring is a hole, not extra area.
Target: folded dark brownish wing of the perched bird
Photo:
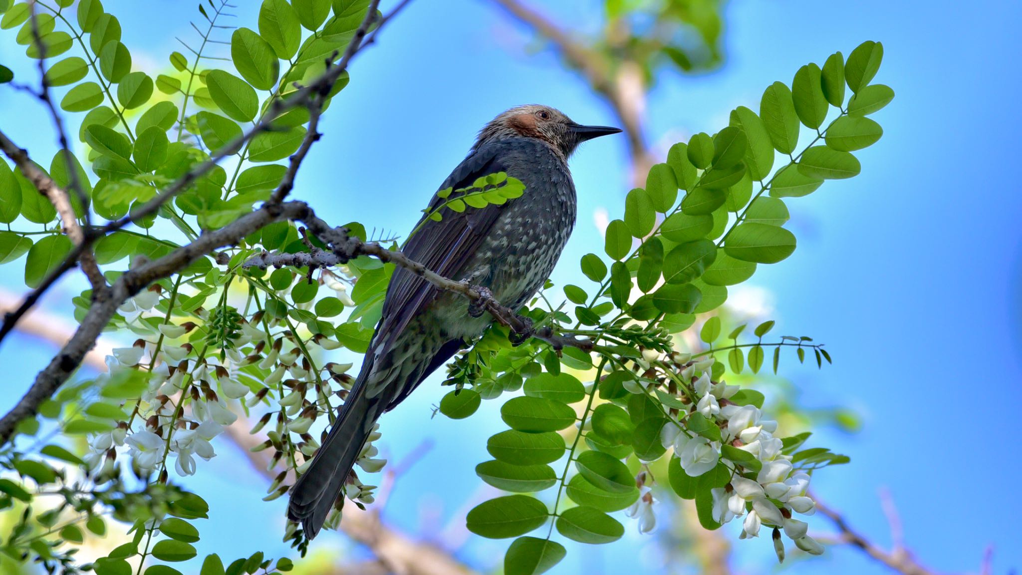
[[[481,146],[455,168],[439,189],[469,187],[479,177],[506,172],[507,167],[502,162],[500,148],[497,145]],[[427,214],[444,202],[444,198],[433,195]],[[461,279],[454,277],[454,274],[474,255],[504,206],[487,204],[484,208],[467,208],[462,213],[444,209],[443,219],[438,222],[424,216],[420,223],[425,223],[408,239],[403,252],[445,277]],[[404,268],[396,269],[387,288],[382,319],[373,338],[373,348],[387,346],[392,342],[405,329],[409,320],[438,295],[439,290],[425,279]],[[467,309],[467,301],[465,306]]]

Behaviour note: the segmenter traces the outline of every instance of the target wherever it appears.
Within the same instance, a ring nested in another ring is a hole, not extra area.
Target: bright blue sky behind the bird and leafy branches
[[[258,3],[237,3],[242,24],[251,26]],[[104,4],[121,17],[125,42],[143,70],[165,65],[167,54],[179,49],[175,35],[194,34],[187,23],[194,2],[151,0],[144,9],[128,0]],[[586,26],[598,4],[570,0],[546,9]],[[863,40],[884,43],[876,81],[897,96],[875,117],[883,138],[856,153],[861,176],[788,202],[798,249],[780,264],[760,266],[750,283],[771,295],[778,333],[812,336],[834,356],[834,365],[822,372],[788,364],[785,374],[803,391],[803,401],[845,405],[864,417],[855,436],[820,434],[852,463],[818,474],[817,492],[886,546],[890,535],[878,490],[888,489],[907,545],[924,565],[947,572],[978,571],[987,546],[993,547],[994,573],[1022,564],[1017,512],[1010,505],[1011,486],[1022,471],[1014,445],[1022,407],[1022,198],[1011,183],[1022,128],[1016,112],[1019,21],[1022,9],[1014,2],[732,2],[726,64],[696,78],[663,74],[649,101],[650,140],[665,148],[693,132],[719,129],[737,105],[756,109],[766,85],[790,82],[803,63],[822,62],[835,50],[847,55]],[[543,102],[583,123],[612,122],[605,105],[554,56],[526,53],[527,41],[484,0],[413,2],[359,56],[352,83],[324,118],[326,136],[313,148],[294,195],[328,220],[403,233],[475,131],[500,110]],[[0,44],[4,63],[31,73],[11,46],[7,34]],[[45,150],[39,156],[48,160],[54,147],[42,113],[0,90],[3,129],[22,146]],[[593,214],[622,212],[630,187],[623,139],[587,144],[572,171],[579,217],[555,273],[560,282],[576,273],[582,254],[602,241]],[[0,269],[8,289],[19,289],[21,277],[17,264]],[[47,304],[59,310],[80,289],[61,285]],[[27,339],[0,348],[10,390],[0,407],[25,389],[45,358],[46,350]],[[497,406],[485,405],[468,421],[430,419],[429,406],[442,395],[437,386],[424,385],[384,419],[381,446],[391,460],[423,441],[433,447],[400,478],[383,517],[412,533],[462,536],[457,514],[479,493],[472,468],[486,458],[482,438],[499,429]],[[192,482],[216,501],[213,520],[201,526],[210,545],[202,550],[225,557],[257,547],[282,551],[276,527],[282,501],[259,502],[262,480],[248,477],[228,446],[218,451],[223,455]],[[814,521],[815,529],[825,526],[822,518]],[[613,573],[636,561],[653,571],[652,539],[626,527],[628,536],[615,544],[572,546],[555,573]],[[737,536],[738,527],[729,527]],[[340,540],[324,537],[317,544],[332,547]],[[506,545],[467,541],[459,558],[483,570]],[[736,541],[735,547],[743,571],[773,569],[766,541]],[[847,548],[787,571],[822,569],[885,572]]]

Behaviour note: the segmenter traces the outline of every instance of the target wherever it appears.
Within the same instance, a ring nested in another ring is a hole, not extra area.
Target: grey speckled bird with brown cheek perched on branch
[[[520,105],[498,115],[438,190],[468,188],[477,178],[504,172],[524,184],[524,193],[502,205],[444,210],[439,221],[428,214],[447,200],[434,194],[403,252],[519,309],[549,277],[574,227],[568,158],[582,142],[620,131],[579,125],[548,105]],[[493,322],[489,313],[469,311],[462,295],[440,291],[402,267],[394,270],[359,375],[291,489],[287,515],[300,522],[308,539],[322,528],[377,418]]]

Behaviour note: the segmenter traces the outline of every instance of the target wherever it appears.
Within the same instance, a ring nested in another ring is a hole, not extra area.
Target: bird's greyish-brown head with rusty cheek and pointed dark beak
[[[550,144],[566,159],[582,142],[618,132],[618,128],[608,126],[576,124],[562,112],[549,105],[526,104],[512,107],[494,118],[479,131],[474,148],[501,138],[537,138]]]

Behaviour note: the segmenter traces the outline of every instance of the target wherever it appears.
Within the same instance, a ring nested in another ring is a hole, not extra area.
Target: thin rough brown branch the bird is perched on
[[[266,269],[269,266],[326,268],[347,263],[359,256],[371,256],[384,263],[390,262],[399,267],[403,267],[440,290],[461,294],[470,302],[470,311],[477,309],[480,312],[489,312],[498,323],[509,327],[513,335],[518,337],[515,341],[519,343],[528,338],[536,338],[547,342],[557,351],[565,347],[574,347],[584,351],[591,351],[593,349],[594,343],[592,340],[558,336],[549,326],[532,329],[530,319],[518,315],[516,310],[501,305],[494,298],[490,290],[485,288],[444,277],[425,265],[412,260],[404,252],[387,250],[376,241],[363,241],[359,237],[349,235],[346,229],[330,227],[326,222],[314,215],[299,219],[309,226],[310,231],[330,247],[330,252],[315,247],[310,252],[297,254],[271,254],[264,252],[259,256],[248,259],[242,265],[244,267],[259,267],[262,269]]]

